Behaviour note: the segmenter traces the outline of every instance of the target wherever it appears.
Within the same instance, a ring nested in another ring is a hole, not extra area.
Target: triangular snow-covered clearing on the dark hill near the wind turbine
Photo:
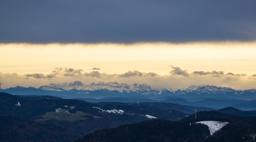
[[[207,125],[211,135],[213,135],[216,131],[219,131],[222,127],[228,124],[228,122],[220,122],[220,121],[200,121],[196,123],[202,123]]]

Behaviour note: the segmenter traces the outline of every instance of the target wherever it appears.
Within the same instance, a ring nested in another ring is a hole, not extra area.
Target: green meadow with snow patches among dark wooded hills
[[[55,112],[46,112],[43,119],[37,119],[35,121],[40,120],[50,120],[50,119],[57,119],[57,120],[69,120],[69,121],[76,121],[76,120],[86,120],[88,118],[82,116],[93,116],[91,114],[83,113],[81,111],[76,112],[75,114],[69,113],[68,109],[56,109]],[[94,118],[99,118],[97,116],[93,116]]]

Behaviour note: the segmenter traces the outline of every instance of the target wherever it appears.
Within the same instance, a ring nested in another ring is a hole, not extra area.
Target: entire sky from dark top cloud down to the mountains
[[[256,1],[2,0],[2,88],[256,88]]]

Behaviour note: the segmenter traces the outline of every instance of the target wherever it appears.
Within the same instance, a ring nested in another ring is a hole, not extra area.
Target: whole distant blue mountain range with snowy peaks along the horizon
[[[235,90],[229,87],[220,87],[213,85],[191,85],[183,90],[173,91],[171,88],[152,89],[147,84],[133,84],[128,85],[125,83],[117,82],[99,82],[85,85],[80,81],[71,83],[51,83],[49,85],[34,87],[11,87],[2,89],[3,92],[12,93],[15,95],[53,95],[63,98],[103,98],[103,97],[116,97],[116,96],[147,96],[147,97],[164,97],[176,96],[183,98],[193,97],[229,97],[229,98],[243,98],[243,99],[256,99],[256,89],[248,90]]]

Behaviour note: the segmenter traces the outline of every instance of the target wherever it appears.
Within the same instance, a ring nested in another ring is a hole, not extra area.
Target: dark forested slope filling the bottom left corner
[[[0,128],[1,142],[68,142],[83,136],[74,130],[12,116],[0,116]]]

